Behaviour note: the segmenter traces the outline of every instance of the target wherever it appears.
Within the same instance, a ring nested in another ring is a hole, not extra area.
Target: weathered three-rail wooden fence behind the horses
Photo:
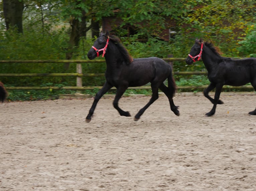
[[[240,58],[234,58],[240,59]],[[164,58],[164,61],[172,65],[174,61],[185,61],[185,58]],[[65,86],[65,87],[6,87],[7,90],[94,90],[101,89],[102,87],[98,86],[83,86],[82,78],[83,77],[99,77],[104,76],[104,74],[84,74],[82,72],[82,63],[104,63],[105,60],[0,60],[0,64],[3,63],[76,63],[77,71],[76,73],[28,73],[28,74],[0,74],[0,77],[67,77],[67,76],[76,76],[77,77],[77,86]],[[173,72],[173,75],[207,75],[207,72]],[[178,86],[178,89],[204,89],[207,86]],[[252,86],[224,86],[224,89],[250,89],[253,90]],[[112,88],[115,89],[115,88]],[[151,89],[150,86],[141,86],[141,87],[130,87],[129,89]]]

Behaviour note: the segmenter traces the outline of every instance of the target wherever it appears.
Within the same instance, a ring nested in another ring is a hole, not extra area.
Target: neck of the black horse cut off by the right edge
[[[221,56],[215,54],[210,48],[205,47],[202,52],[202,60],[208,72],[214,71],[218,67]]]

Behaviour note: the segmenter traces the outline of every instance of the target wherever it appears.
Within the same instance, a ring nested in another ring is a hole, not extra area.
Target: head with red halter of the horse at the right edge
[[[196,62],[198,60],[200,60],[200,57],[202,55],[202,51],[203,51],[203,39],[198,39],[196,38],[195,44],[193,45],[193,47],[190,49],[190,52],[186,58],[186,63],[188,65],[193,64],[193,62]],[[197,60],[195,60],[196,58],[198,58]]]

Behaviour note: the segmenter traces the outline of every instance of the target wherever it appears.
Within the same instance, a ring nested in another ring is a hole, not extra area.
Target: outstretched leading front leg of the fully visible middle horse
[[[98,101],[100,100],[100,98],[104,94],[106,94],[112,87],[113,86],[111,84],[109,84],[108,82],[105,82],[105,84],[103,85],[102,89],[95,95],[92,107],[89,110],[89,113],[88,113],[88,115],[86,117],[86,120],[85,120],[87,123],[89,123],[91,121],[93,112],[94,112],[95,107],[96,107]]]

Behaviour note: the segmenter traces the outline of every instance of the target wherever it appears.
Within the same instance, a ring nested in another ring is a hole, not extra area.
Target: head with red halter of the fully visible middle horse
[[[100,37],[94,42],[92,48],[89,50],[87,57],[90,60],[102,55],[104,57],[109,42],[109,32],[101,32]]]

